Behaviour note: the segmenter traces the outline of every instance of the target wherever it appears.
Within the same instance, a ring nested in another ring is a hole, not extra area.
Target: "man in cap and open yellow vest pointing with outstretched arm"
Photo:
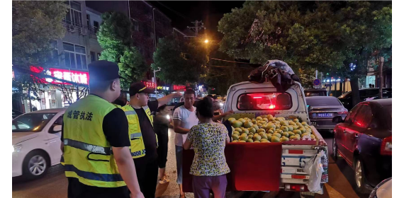
[[[154,198],[158,173],[158,140],[153,129],[152,112],[181,94],[172,93],[158,100],[148,101],[148,93],[154,93],[154,90],[147,88],[144,83],[133,83],[129,88],[129,105],[122,109],[128,118],[130,152],[135,162],[140,190],[146,198]]]

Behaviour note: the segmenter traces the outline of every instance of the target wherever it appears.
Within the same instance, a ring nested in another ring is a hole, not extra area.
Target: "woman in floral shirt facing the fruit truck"
[[[196,116],[200,124],[193,126],[188,133],[184,149],[193,146],[195,157],[190,174],[193,175],[193,194],[195,197],[209,197],[210,190],[215,198],[225,197],[227,173],[225,144],[230,142],[225,125],[213,122],[212,100],[203,98],[196,104]]]

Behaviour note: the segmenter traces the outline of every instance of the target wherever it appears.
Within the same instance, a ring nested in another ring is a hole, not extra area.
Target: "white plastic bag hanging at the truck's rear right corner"
[[[324,151],[320,151],[305,164],[303,170],[310,175],[307,188],[310,192],[321,191],[321,177],[324,169],[322,168],[321,158],[325,156]]]

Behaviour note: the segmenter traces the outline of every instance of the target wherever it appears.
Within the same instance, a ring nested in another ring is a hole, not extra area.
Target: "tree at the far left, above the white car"
[[[51,43],[64,37],[61,21],[66,12],[63,1],[13,1],[13,66],[29,69],[31,65],[46,67],[55,62],[58,57],[51,55]],[[13,79],[13,98],[36,100],[28,93],[37,95],[42,87],[29,74],[18,73]]]

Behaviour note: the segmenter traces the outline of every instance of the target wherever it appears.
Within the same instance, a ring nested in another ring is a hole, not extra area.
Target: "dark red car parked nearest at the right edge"
[[[333,157],[340,154],[354,168],[358,192],[391,177],[392,99],[371,100],[356,105],[344,121],[337,124],[332,140]]]

